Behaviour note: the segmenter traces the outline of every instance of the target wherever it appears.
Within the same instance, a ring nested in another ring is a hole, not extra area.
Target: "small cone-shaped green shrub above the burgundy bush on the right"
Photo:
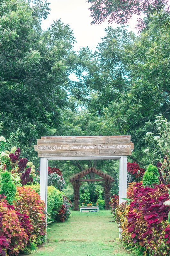
[[[156,166],[150,164],[143,175],[142,183],[144,186],[153,187],[154,184],[159,183],[159,172]]]

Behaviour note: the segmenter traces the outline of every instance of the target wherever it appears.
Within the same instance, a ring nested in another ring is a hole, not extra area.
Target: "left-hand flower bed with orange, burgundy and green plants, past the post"
[[[5,149],[0,137],[0,255],[30,253],[45,241],[45,204],[39,196],[39,177],[35,166],[21,157],[20,148]],[[57,168],[48,168],[49,221],[65,221],[70,215],[70,202],[64,196],[65,181]]]

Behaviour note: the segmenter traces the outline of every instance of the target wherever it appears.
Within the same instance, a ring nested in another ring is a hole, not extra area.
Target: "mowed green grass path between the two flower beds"
[[[30,256],[127,256],[118,241],[117,223],[110,211],[74,212],[64,223],[53,223],[47,231],[47,243]],[[128,254],[132,256],[132,254]]]

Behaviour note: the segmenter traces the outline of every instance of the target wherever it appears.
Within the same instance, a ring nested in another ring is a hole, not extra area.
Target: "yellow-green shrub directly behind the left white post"
[[[30,185],[30,188],[35,190],[39,194],[40,186],[38,185]],[[50,215],[52,220],[55,220],[55,216],[57,211],[61,208],[63,204],[63,193],[56,189],[53,186],[47,187],[47,213]],[[47,220],[50,220],[49,216],[47,216]]]

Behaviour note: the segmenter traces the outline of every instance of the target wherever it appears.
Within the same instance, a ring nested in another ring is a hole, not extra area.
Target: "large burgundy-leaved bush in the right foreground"
[[[141,183],[134,186],[134,201],[127,214],[128,232],[131,233],[133,243],[138,242],[144,246],[146,240],[148,244],[153,240],[154,232],[162,232],[162,223],[167,221],[170,211],[170,207],[164,205],[169,200],[169,187],[170,185],[160,184],[155,188],[144,188]],[[165,238],[169,239],[169,235]]]

